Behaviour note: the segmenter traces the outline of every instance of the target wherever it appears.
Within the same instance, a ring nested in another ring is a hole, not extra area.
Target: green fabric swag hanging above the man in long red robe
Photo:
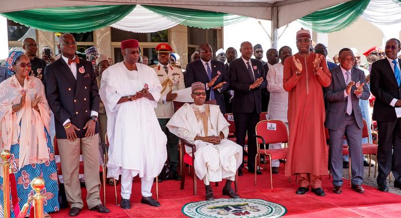
[[[352,0],[326,9],[313,12],[302,17],[298,22],[317,32],[333,32],[341,30],[363,14],[370,0]]]

